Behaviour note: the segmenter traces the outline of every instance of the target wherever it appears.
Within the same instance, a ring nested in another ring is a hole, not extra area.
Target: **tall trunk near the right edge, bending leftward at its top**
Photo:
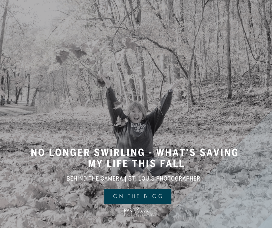
[[[265,87],[269,87],[270,79],[270,59],[271,59],[271,37],[270,37],[270,25],[267,22],[266,13],[265,13],[265,0],[260,1],[262,21],[264,23],[264,28],[266,31],[266,78],[264,82]]]

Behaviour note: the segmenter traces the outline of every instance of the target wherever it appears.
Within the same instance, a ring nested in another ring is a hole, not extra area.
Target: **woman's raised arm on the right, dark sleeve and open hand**
[[[147,115],[146,118],[148,118],[148,121],[150,122],[153,135],[163,123],[164,116],[171,105],[172,93],[180,82],[181,79],[170,85],[168,92],[161,99],[160,110],[155,108],[150,114]]]

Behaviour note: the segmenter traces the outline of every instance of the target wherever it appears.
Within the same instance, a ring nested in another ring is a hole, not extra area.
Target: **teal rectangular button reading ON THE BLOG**
[[[171,189],[105,189],[104,204],[171,204]]]

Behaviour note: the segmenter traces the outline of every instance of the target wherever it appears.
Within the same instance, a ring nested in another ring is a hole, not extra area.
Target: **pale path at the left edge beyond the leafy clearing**
[[[23,104],[5,104],[5,106],[0,107],[0,116],[32,114],[35,110],[36,109],[33,106],[25,106]]]

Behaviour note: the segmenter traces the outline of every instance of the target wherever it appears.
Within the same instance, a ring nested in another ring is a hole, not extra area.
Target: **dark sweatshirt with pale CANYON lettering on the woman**
[[[117,139],[116,148],[120,151],[119,154],[121,154],[121,149],[123,149],[124,154],[127,154],[128,149],[130,154],[131,149],[136,149],[137,156],[128,157],[136,160],[146,160],[154,157],[153,135],[161,126],[164,116],[171,105],[172,92],[168,91],[168,93],[166,93],[161,99],[161,111],[155,108],[150,114],[146,116],[145,119],[141,121],[141,123],[138,124],[133,124],[129,117],[124,114],[122,109],[113,109],[115,107],[113,103],[116,102],[117,99],[111,87],[107,89],[106,97],[109,113],[111,116],[111,122],[113,124],[113,132]],[[163,114],[161,114],[161,112]],[[128,119],[128,122],[122,127],[114,126],[118,116],[121,118],[121,120],[125,118]],[[144,150],[144,156],[139,156],[139,149]]]

